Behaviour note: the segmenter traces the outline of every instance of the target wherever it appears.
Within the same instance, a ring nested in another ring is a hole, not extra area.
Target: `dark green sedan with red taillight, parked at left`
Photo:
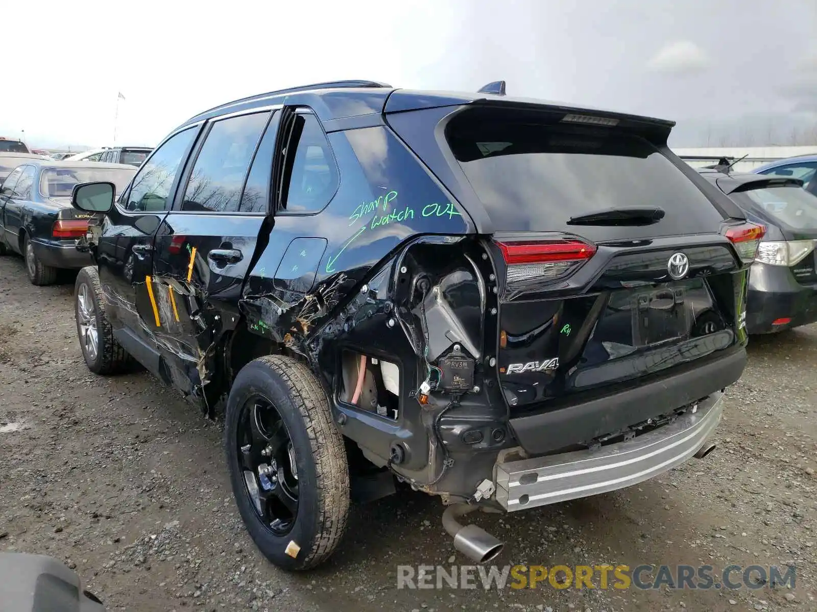
[[[74,185],[109,181],[122,191],[134,174],[136,168],[122,164],[25,160],[0,188],[0,255],[24,255],[34,285],[54,282],[58,268],[91,264],[90,256],[75,246],[92,215],[71,207]]]

